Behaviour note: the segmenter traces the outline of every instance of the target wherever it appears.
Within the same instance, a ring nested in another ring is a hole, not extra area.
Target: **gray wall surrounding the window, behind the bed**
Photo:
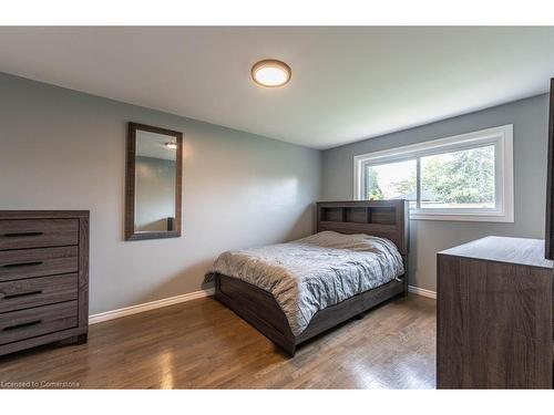
[[[353,197],[353,156],[429,139],[514,125],[515,222],[410,221],[411,284],[435,290],[435,252],[486,235],[544,238],[547,95],[458,116],[324,152],[322,198]]]

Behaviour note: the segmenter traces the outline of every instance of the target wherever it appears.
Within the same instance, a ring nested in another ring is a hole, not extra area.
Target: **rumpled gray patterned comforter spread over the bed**
[[[224,252],[213,273],[238,278],[270,292],[295,335],[316,312],[403,273],[388,239],[325,231],[293,242]]]

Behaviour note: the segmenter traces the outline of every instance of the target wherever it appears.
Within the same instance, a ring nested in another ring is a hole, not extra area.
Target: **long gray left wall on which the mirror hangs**
[[[184,133],[183,237],[123,241],[129,121]],[[201,289],[222,251],[312,230],[321,154],[0,74],[0,209],[91,210],[91,313]]]

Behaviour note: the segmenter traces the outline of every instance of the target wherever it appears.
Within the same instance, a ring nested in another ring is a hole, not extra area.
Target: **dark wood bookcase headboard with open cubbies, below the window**
[[[390,239],[408,255],[408,200],[318,201],[316,231],[367,234]]]

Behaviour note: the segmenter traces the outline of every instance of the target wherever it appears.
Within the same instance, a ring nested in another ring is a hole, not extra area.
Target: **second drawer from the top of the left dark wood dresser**
[[[76,272],[78,247],[0,251],[0,282]]]

